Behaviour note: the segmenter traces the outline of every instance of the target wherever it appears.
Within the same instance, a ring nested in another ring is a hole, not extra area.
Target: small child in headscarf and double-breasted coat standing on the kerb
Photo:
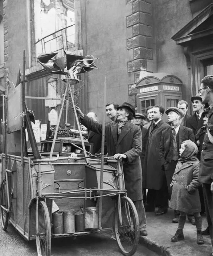
[[[183,227],[186,220],[186,214],[193,212],[197,228],[197,244],[204,244],[201,234],[202,218],[201,203],[199,198],[198,172],[200,162],[196,155],[198,148],[194,142],[187,140],[181,144],[180,158],[176,165],[175,173],[170,187],[172,187],[172,196],[170,208],[180,211],[178,228],[175,236],[171,238],[172,242],[183,240]]]

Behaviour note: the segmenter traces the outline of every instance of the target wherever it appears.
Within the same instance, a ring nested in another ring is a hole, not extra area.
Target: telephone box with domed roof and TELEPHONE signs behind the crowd
[[[146,113],[147,107],[161,105],[166,109],[177,107],[182,99],[183,82],[174,75],[153,73],[144,77],[137,84],[137,111]],[[164,114],[163,120],[167,121]]]

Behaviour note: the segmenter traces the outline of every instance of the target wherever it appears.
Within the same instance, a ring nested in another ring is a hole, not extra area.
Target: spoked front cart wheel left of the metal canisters
[[[50,256],[50,216],[44,201],[38,203],[38,234],[36,234],[36,247],[38,256]]]

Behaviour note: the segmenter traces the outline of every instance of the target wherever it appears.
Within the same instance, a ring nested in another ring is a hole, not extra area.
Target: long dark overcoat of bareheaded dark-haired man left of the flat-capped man
[[[152,126],[151,126],[152,127]],[[150,129],[151,129],[150,127]],[[161,143],[162,132],[169,132],[170,125],[161,120],[150,131],[147,150],[145,153],[145,171],[146,171],[146,188],[159,190],[163,185],[164,173],[161,169],[159,148]]]

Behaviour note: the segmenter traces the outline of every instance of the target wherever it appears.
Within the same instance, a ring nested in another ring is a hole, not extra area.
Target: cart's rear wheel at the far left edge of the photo
[[[5,182],[2,183],[2,187],[1,187],[0,206],[3,206],[4,208],[8,209],[7,189],[6,189]],[[4,209],[2,209],[2,207],[0,207],[0,218],[1,218],[2,229],[6,230],[8,226],[9,212],[6,212]]]

